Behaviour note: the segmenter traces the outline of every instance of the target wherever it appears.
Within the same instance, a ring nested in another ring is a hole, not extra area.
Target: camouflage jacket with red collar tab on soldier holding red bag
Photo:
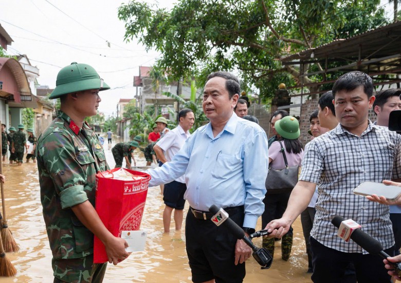
[[[95,206],[95,174],[109,169],[97,136],[86,123],[80,129],[60,111],[39,136],[36,155],[43,218],[53,257],[92,254],[94,235],[70,207],[86,200]]]

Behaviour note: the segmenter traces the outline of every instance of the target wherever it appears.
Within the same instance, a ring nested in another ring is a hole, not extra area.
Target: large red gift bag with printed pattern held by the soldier
[[[117,173],[128,174],[125,178],[121,178],[115,176]],[[150,179],[151,176],[147,173],[125,168],[115,168],[96,174],[95,209],[104,226],[114,236],[120,237],[121,231],[139,230]],[[106,249],[95,236],[94,263],[103,263],[107,260]]]

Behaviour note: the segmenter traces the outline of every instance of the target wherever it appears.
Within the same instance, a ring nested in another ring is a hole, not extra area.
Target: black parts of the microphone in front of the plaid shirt
[[[345,221],[341,216],[335,216],[332,220],[332,224],[337,228],[340,227],[342,221]],[[390,257],[385,251],[383,251],[383,246],[377,241],[375,238],[366,234],[361,229],[356,229],[351,234],[351,239],[357,243],[363,250],[367,251],[372,255],[379,255],[384,259]],[[401,263],[399,262],[390,262],[390,264],[394,267],[395,272],[398,276],[401,276]]]

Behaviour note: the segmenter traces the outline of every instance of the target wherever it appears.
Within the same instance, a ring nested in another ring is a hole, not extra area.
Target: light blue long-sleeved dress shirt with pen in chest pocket
[[[245,205],[244,227],[254,228],[264,211],[268,170],[267,136],[257,123],[232,114],[213,137],[211,124],[198,128],[171,162],[149,169],[150,186],[169,183],[185,173],[184,198],[208,211]]]

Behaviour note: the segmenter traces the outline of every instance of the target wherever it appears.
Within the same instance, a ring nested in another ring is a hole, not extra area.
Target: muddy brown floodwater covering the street
[[[106,139],[107,141],[107,139]],[[113,143],[114,145],[114,143]],[[104,145],[107,162],[114,168],[111,149]],[[135,151],[137,166],[144,166],[143,154]],[[5,203],[7,220],[13,237],[20,244],[17,253],[7,258],[17,270],[15,277],[0,277],[5,282],[52,282],[51,252],[42,217],[38,169],[36,164],[22,166],[3,165],[6,175]],[[108,264],[104,282],[192,282],[191,271],[185,251],[184,225],[182,231],[163,233],[162,211],[164,204],[159,187],[148,190],[148,198],[142,218],[141,229],[148,231],[145,251],[130,255],[125,261],[113,266]],[[185,207],[184,215],[188,211]],[[172,222],[171,227],[174,227]],[[306,273],[307,256],[299,218],[293,225],[294,245],[288,261],[281,259],[280,242],[276,242],[275,259],[268,270],[261,270],[253,259],[246,262],[244,282],[311,282]],[[258,228],[261,229],[260,222]],[[253,240],[261,246],[261,239]]]

